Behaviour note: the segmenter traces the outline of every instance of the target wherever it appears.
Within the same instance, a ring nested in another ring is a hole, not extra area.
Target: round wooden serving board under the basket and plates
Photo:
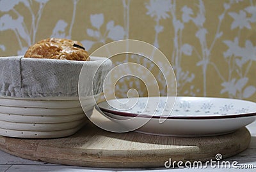
[[[0,149],[25,159],[103,168],[162,167],[169,161],[215,161],[246,149],[250,133],[243,127],[221,136],[182,138],[135,132],[109,133],[88,122],[76,134],[58,139],[0,136]]]

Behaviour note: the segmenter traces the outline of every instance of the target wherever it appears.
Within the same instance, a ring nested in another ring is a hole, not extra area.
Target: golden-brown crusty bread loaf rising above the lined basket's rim
[[[89,61],[82,43],[71,39],[47,38],[28,48],[24,57]]]

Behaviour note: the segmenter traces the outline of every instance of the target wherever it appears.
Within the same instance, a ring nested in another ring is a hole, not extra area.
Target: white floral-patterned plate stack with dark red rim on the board
[[[118,99],[122,103],[110,100],[115,108],[109,106],[106,101],[99,103],[98,106],[108,117],[118,119],[115,121],[127,128],[136,128],[138,124],[148,121],[136,131],[168,136],[214,136],[232,133],[256,119],[256,103],[250,101],[214,97],[177,97],[173,107],[172,104],[164,106],[165,99]],[[152,110],[151,107],[156,104],[157,108]],[[172,107],[172,113],[166,114]]]

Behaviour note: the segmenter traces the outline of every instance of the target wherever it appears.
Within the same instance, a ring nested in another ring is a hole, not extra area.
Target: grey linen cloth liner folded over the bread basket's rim
[[[99,57],[98,60],[93,61],[92,58],[92,61],[86,62],[22,56],[0,57],[0,96],[77,97],[79,74],[83,65],[86,66],[83,68],[83,89],[79,90],[82,92],[79,96],[92,96],[92,90],[94,95],[100,94],[102,81],[111,68],[111,61],[102,64],[103,60],[99,59],[106,60]],[[93,80],[93,73],[99,66]]]

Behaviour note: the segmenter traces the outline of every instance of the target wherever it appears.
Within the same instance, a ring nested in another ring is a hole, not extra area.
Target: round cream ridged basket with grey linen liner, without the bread
[[[90,61],[0,57],[0,135],[60,138],[76,133],[88,121],[84,111],[92,113],[111,65],[103,57]],[[83,108],[78,96],[82,68],[88,71],[84,90],[79,90]],[[95,69],[100,72],[94,73]]]

